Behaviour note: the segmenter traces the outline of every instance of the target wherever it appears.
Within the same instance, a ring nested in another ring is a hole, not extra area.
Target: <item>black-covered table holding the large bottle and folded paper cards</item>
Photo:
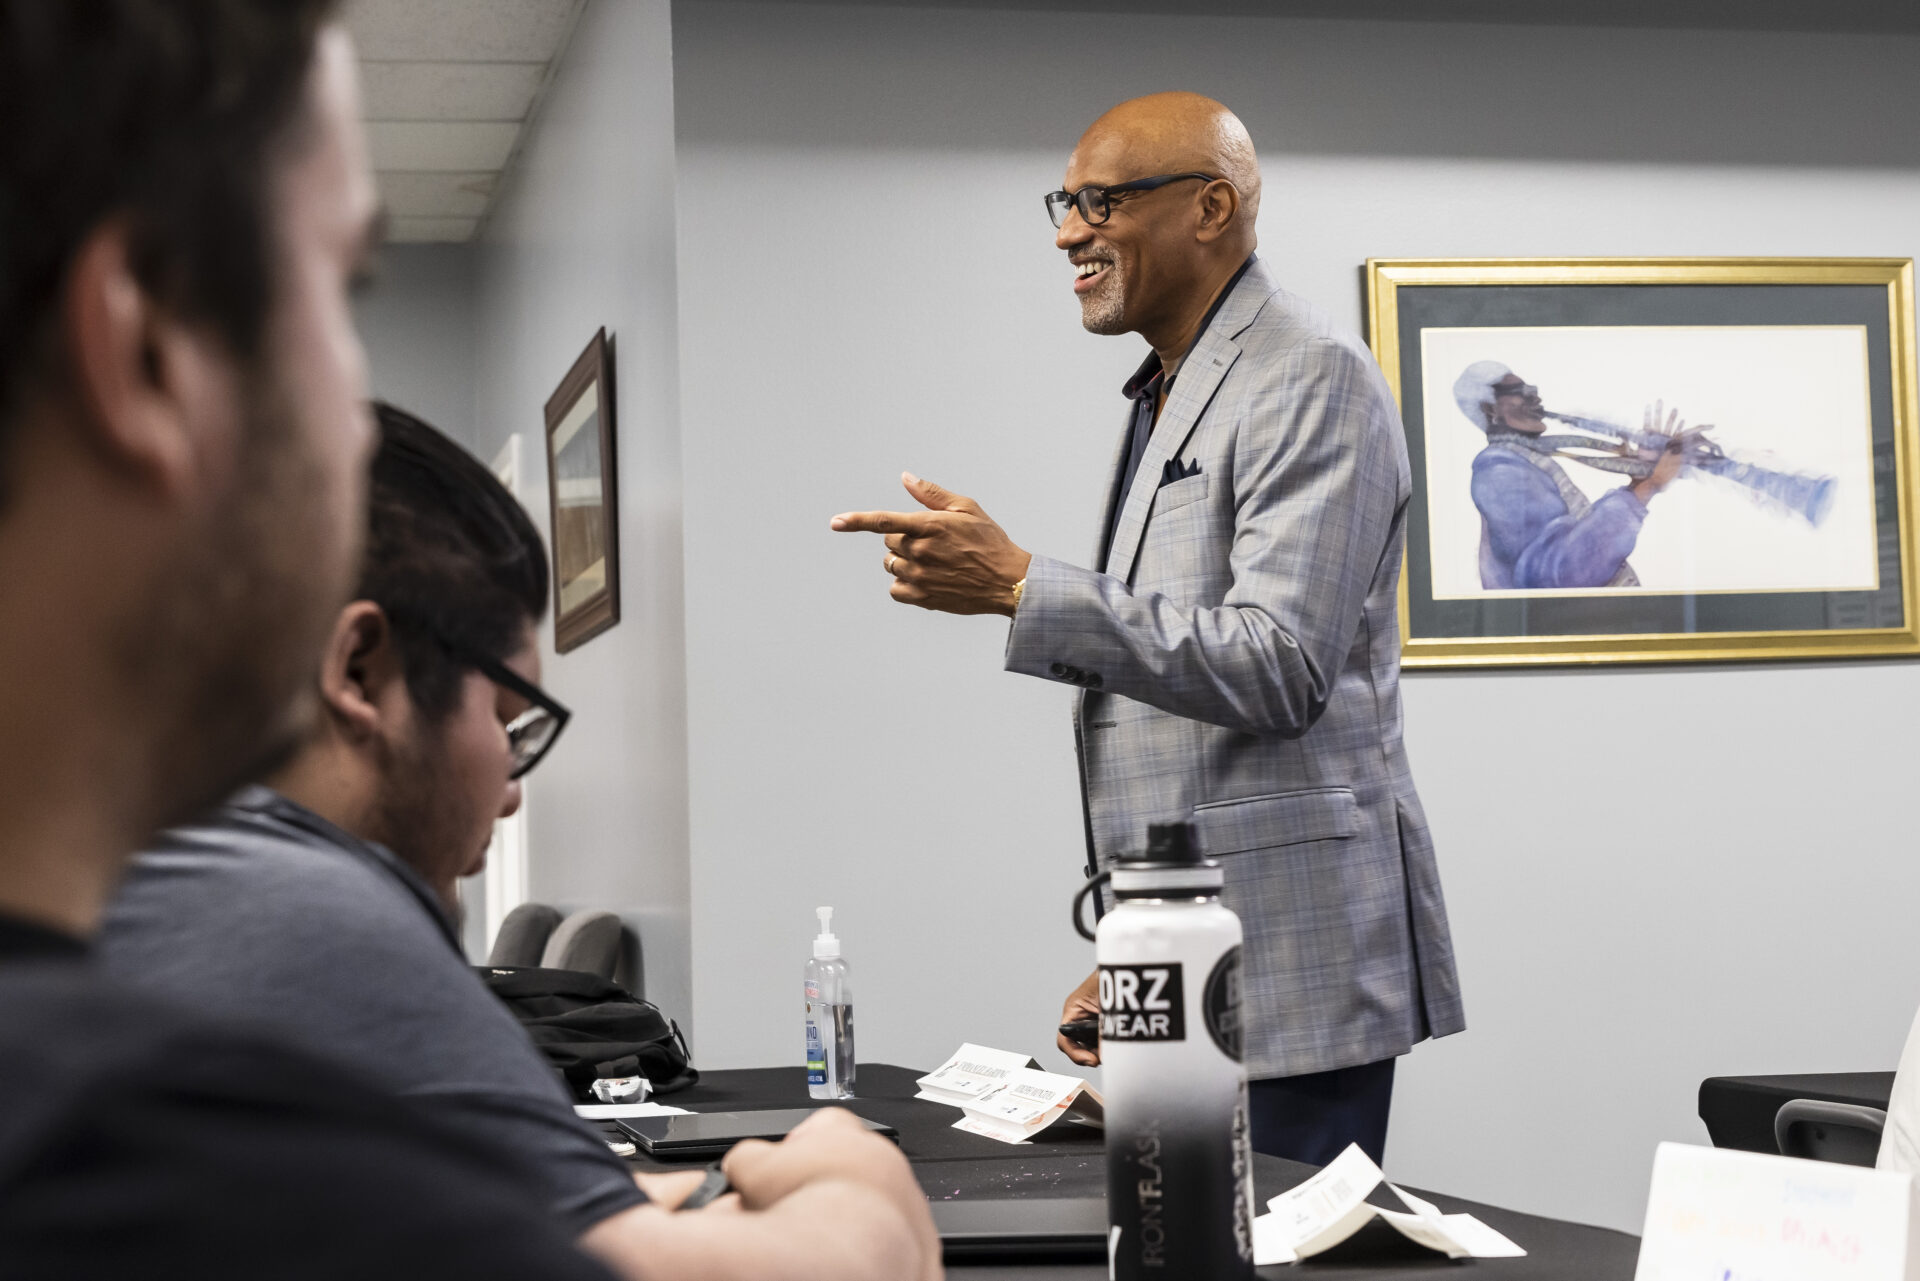
[[[952,1127],[960,1118],[958,1108],[914,1099],[918,1076],[922,1074],[891,1064],[860,1064],[854,1077],[860,1097],[849,1100],[847,1106],[900,1131],[900,1150],[912,1160],[920,1187],[931,1200],[1106,1195],[1106,1164],[1098,1131],[1083,1125],[1056,1125],[1035,1135],[1025,1147],[970,1135]],[[707,1072],[699,1085],[666,1095],[660,1102],[693,1112],[831,1106],[806,1097],[806,1074],[801,1068]],[[674,1168],[645,1158],[636,1158],[634,1164],[643,1170]],[[1258,1208],[1265,1210],[1269,1196],[1284,1193],[1311,1173],[1313,1166],[1254,1156]],[[1400,1277],[1442,1273],[1457,1277],[1463,1266],[1473,1268],[1475,1277],[1488,1281],[1546,1281],[1549,1277],[1553,1281],[1626,1281],[1634,1275],[1634,1262],[1640,1254],[1638,1237],[1605,1227],[1515,1214],[1440,1193],[1409,1191],[1450,1214],[1461,1210],[1473,1214],[1528,1250],[1528,1256],[1457,1264],[1415,1246],[1394,1229],[1375,1221],[1327,1254],[1317,1254],[1298,1266],[1261,1268],[1260,1275],[1325,1273],[1354,1281],[1398,1281]],[[1382,1204],[1392,1206],[1394,1202]],[[1094,1281],[1096,1277],[1104,1281],[1106,1264],[948,1264],[948,1271],[968,1281],[989,1277],[995,1281]]]

